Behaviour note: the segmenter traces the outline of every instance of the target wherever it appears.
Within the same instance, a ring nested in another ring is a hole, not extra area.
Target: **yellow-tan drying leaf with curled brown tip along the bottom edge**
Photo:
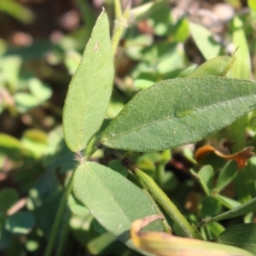
[[[246,250],[210,241],[172,236],[164,232],[141,232],[160,215],[135,220],[131,224],[131,240],[134,245],[160,256],[253,256]]]

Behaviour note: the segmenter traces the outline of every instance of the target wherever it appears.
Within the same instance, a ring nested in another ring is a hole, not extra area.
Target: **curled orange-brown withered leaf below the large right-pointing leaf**
[[[238,169],[241,169],[244,166],[247,166],[247,160],[249,160],[254,155],[253,149],[254,149],[253,147],[247,147],[247,148],[243,148],[239,152],[236,152],[235,154],[222,154],[212,146],[206,145],[199,148],[195,152],[195,160],[201,161],[207,153],[214,152],[214,154],[217,154],[219,157],[223,158],[224,160],[235,160],[237,163]]]

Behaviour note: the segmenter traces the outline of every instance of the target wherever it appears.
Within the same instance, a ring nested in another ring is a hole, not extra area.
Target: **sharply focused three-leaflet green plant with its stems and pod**
[[[116,31],[119,32],[118,29]],[[103,10],[67,91],[63,130],[67,146],[78,160],[78,166],[63,195],[46,255],[51,252],[61,214],[72,190],[99,224],[140,253],[147,254],[143,251],[145,247],[136,247],[129,231],[135,220],[159,213],[154,201],[172,218],[180,236],[202,240],[199,230],[189,223],[154,179],[120,152],[154,152],[195,143],[256,108],[255,82],[224,78],[236,56],[218,56],[194,71],[186,71],[178,79],[164,80],[138,92],[109,124],[102,125],[113,87],[113,55],[116,48],[113,45],[116,41],[111,42],[108,16]],[[141,187],[125,177],[127,172],[124,175],[121,171],[116,172],[91,161],[90,156],[97,147],[115,151]],[[207,181],[211,179],[212,172],[203,172],[204,169],[198,174],[198,179],[209,193]],[[149,191],[154,201],[143,188]],[[255,209],[253,200],[215,218],[205,219],[202,224],[205,227],[210,222],[233,218]],[[157,220],[148,230],[162,232],[168,227]],[[241,230],[244,230],[243,227]],[[229,243],[224,237],[228,236],[220,236],[218,241]],[[186,246],[182,239],[177,241],[181,241],[180,248]],[[191,243],[194,249],[197,248],[196,240],[191,240]],[[198,244],[200,252],[205,247],[204,241]],[[209,246],[209,242],[206,245]],[[212,244],[210,249],[217,247],[218,243]],[[222,245],[218,253],[220,251],[222,254],[219,255],[235,255],[236,248]],[[171,252],[168,255],[177,254]],[[240,255],[253,254],[240,250]]]

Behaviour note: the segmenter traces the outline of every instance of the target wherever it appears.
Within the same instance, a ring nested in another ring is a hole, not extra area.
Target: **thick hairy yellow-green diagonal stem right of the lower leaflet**
[[[177,224],[178,229],[182,232],[183,236],[202,239],[198,230],[192,227],[183,214],[179,212],[177,207],[168,198],[168,196],[160,189],[160,187],[154,182],[152,177],[149,177],[146,173],[135,168],[135,174],[145,189],[151,193],[155,201],[157,201],[161,207],[163,207],[172,220]]]

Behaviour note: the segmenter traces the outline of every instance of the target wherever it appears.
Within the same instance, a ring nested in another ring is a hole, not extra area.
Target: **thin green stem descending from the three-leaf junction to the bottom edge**
[[[61,224],[61,219],[62,219],[63,213],[64,213],[65,208],[67,206],[67,198],[70,195],[71,190],[73,188],[73,173],[72,173],[72,176],[69,178],[69,181],[67,183],[67,187],[65,189],[64,195],[62,196],[61,204],[60,204],[60,207],[59,207],[58,212],[57,212],[56,217],[55,217],[55,223],[54,223],[54,225],[52,227],[52,230],[50,232],[49,243],[46,247],[46,251],[44,253],[44,256],[50,256],[50,254],[52,252],[52,249],[54,247],[55,237],[57,235],[57,231],[58,231],[59,226]]]

